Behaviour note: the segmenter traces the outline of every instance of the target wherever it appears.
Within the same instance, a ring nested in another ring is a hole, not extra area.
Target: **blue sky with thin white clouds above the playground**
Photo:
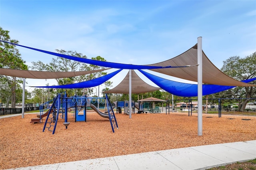
[[[20,45],[52,52],[77,51],[89,59],[101,56],[106,61],[136,65],[176,57],[202,37],[204,53],[221,69],[229,57],[256,51],[256,1],[0,0],[0,27],[10,31],[11,39]],[[55,57],[17,48],[28,66],[37,61],[50,63]],[[124,70],[110,79],[113,87],[127,73]],[[29,86],[57,84],[53,79],[26,82],[28,91]]]

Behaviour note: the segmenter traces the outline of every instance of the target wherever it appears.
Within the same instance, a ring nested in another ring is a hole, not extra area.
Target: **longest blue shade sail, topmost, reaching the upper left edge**
[[[0,40],[1,42],[5,42]],[[5,42],[5,43],[10,43],[10,42]],[[36,49],[36,48],[32,48],[32,47],[27,47],[24,45],[19,45],[19,44],[15,44],[15,43],[10,43],[13,45],[17,45],[20,47],[25,47],[28,49],[33,49],[36,51],[40,51],[43,53],[48,53],[51,55],[56,55],[58,57],[63,57],[66,59],[72,59],[74,61],[79,61],[82,63],[88,63],[88,64],[92,64],[92,65],[98,65],[98,66],[102,66],[102,67],[110,67],[110,68],[116,68],[116,69],[162,69],[162,68],[177,68],[177,67],[189,67],[189,66],[147,66],[147,65],[132,65],[132,64],[122,64],[122,63],[112,63],[112,62],[107,62],[107,61],[98,61],[98,60],[94,60],[94,59],[86,59],[86,58],[80,58],[80,57],[74,57],[74,56],[70,56],[70,55],[64,55],[64,54],[59,54],[59,53],[54,53],[54,52],[50,52],[50,51],[45,51],[45,50],[41,50],[41,49]],[[194,65],[193,65],[194,66]]]

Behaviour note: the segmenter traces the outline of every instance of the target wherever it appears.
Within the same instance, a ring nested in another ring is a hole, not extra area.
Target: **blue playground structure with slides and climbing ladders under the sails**
[[[103,103],[103,99],[106,100],[106,113],[99,111],[93,104],[95,102]],[[86,122],[87,107],[92,108],[101,117],[109,119],[113,132],[114,128],[118,129],[116,117],[107,94],[105,95],[105,98],[93,98],[88,95],[67,97],[66,93],[58,93],[52,101],[46,102],[42,105],[40,115],[37,115],[38,118],[32,119],[30,123],[41,123],[42,119],[46,117],[43,132],[48,128],[48,130],[52,131],[52,134],[54,134],[59,117],[61,119],[65,119],[63,125],[68,128],[68,125],[70,124],[68,122],[68,109],[74,109],[75,122]],[[46,113],[43,113],[43,111],[46,111]]]

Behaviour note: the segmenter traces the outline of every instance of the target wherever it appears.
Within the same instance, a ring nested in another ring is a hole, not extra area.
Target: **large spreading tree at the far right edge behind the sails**
[[[256,77],[256,52],[248,55],[244,58],[239,56],[233,56],[228,58],[226,61],[223,61],[223,66],[221,70],[237,80],[252,79]],[[256,81],[253,81],[251,84],[256,85]],[[235,87],[220,93],[224,94],[226,97],[234,98],[250,98],[255,97],[256,87]],[[238,111],[244,111],[248,99],[238,99]]]

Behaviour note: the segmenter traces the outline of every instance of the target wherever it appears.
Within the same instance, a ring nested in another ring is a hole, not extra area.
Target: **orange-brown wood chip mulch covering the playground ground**
[[[203,114],[202,136],[195,113],[132,114],[132,119],[116,114],[114,133],[109,120],[97,113],[76,123],[68,115],[67,129],[59,119],[55,134],[42,132],[44,123],[30,123],[36,114],[24,117],[0,119],[0,169],[256,140],[254,116]]]

